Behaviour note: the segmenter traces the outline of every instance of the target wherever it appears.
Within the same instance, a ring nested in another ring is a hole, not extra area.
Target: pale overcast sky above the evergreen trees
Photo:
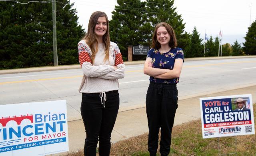
[[[73,2],[79,17],[78,23],[86,32],[93,12],[106,12],[111,20],[111,12],[117,5],[116,0],[70,0],[70,3]],[[204,39],[205,32],[209,38],[215,38],[221,30],[222,43],[233,44],[236,40],[244,42],[250,21],[256,20],[256,0],[174,0],[174,6],[186,23],[186,32],[192,33],[196,26]]]

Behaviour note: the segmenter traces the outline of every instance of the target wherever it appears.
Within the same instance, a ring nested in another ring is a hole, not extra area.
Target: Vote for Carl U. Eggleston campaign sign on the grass
[[[255,134],[252,95],[200,98],[203,138]]]

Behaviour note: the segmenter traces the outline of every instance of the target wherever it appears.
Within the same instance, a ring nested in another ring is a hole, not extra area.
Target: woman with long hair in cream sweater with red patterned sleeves
[[[84,74],[81,115],[86,130],[84,155],[109,156],[110,137],[119,108],[118,79],[124,78],[124,63],[118,46],[110,42],[108,17],[94,12],[88,31],[78,43],[79,62]]]

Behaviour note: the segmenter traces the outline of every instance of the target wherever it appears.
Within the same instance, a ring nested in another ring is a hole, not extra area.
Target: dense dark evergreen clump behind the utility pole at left
[[[64,0],[63,3],[69,3]],[[58,63],[77,64],[84,35],[73,4],[56,3]],[[0,68],[53,65],[52,3],[0,3]]]

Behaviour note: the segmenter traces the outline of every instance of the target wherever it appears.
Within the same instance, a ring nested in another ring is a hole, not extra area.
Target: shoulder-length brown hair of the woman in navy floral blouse
[[[168,34],[170,34],[170,41],[169,41],[169,46],[171,48],[174,48],[177,46],[177,39],[176,39],[176,35],[175,35],[175,32],[172,28],[172,26],[170,26],[170,24],[166,23],[166,22],[161,22],[161,23],[158,23],[156,25],[156,28],[154,30],[154,33],[153,33],[153,37],[152,37],[152,44],[151,44],[151,47],[154,48],[154,49],[159,49],[161,48],[161,44],[157,41],[157,38],[156,38],[156,31],[157,29],[160,27],[160,26],[164,26],[168,32]]]

